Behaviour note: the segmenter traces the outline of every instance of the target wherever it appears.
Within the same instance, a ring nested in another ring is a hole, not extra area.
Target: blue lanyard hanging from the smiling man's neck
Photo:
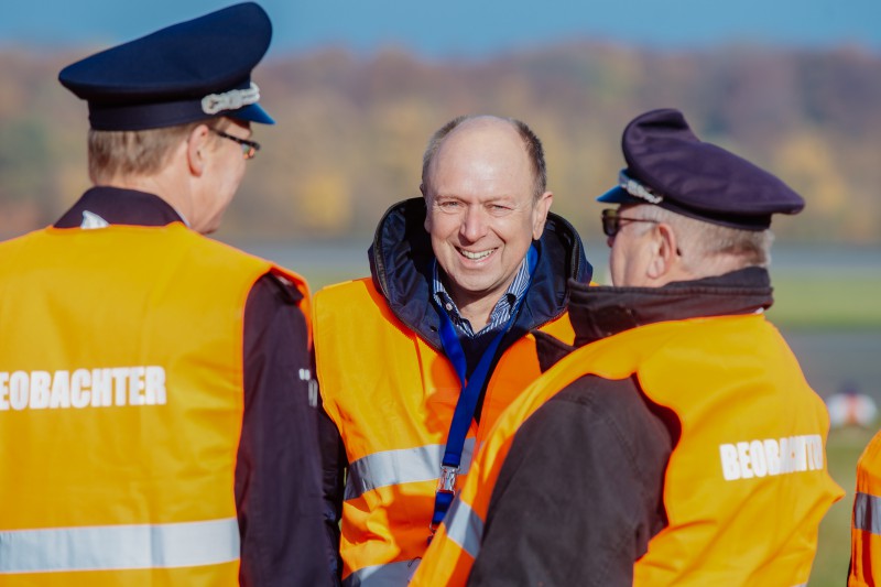
[[[504,327],[492,338],[492,341],[487,347],[487,350],[480,356],[480,360],[475,367],[471,377],[466,380],[466,359],[465,351],[461,348],[459,336],[456,333],[456,327],[449,315],[440,308],[440,344],[444,347],[444,354],[447,356],[453,367],[456,369],[456,374],[459,377],[461,383],[461,392],[456,402],[456,411],[453,413],[453,422],[449,425],[449,434],[447,435],[447,444],[444,449],[444,458],[440,463],[440,478],[437,480],[437,490],[435,491],[434,513],[432,514],[432,523],[429,525],[432,535],[437,530],[437,526],[444,520],[447,510],[449,510],[453,498],[456,496],[456,477],[459,472],[461,465],[461,453],[465,447],[465,437],[468,435],[468,428],[471,425],[471,420],[475,417],[475,410],[477,409],[477,401],[480,398],[480,392],[483,384],[489,377],[490,367],[496,354],[499,350],[502,338],[509,333],[516,319],[520,303],[529,294],[529,287],[532,285],[532,278],[535,274],[535,267],[539,263],[539,251],[535,247],[530,247],[526,252],[526,262],[530,268],[530,284],[526,291],[516,301],[514,307],[511,308],[511,316],[504,324]],[[431,537],[428,539],[431,541]]]

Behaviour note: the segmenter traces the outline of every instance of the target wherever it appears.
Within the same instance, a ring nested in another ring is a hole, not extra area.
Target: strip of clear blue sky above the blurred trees
[[[224,0],[9,0],[0,45],[109,45],[229,6]],[[881,0],[265,0],[272,52],[341,44],[485,56],[572,39],[688,48],[718,42],[881,52]]]

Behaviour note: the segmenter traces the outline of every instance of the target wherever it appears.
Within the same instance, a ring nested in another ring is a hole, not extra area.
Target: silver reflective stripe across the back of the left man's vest
[[[0,531],[0,573],[216,565],[239,558],[235,518]]]

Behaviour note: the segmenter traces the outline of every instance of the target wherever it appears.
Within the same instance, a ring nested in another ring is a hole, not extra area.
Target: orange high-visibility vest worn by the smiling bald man
[[[449,360],[404,326],[369,279],[322,290],[314,302],[324,407],[346,446],[344,581],[406,584],[427,547],[440,460],[460,383]],[[542,328],[573,340],[568,315]],[[514,343],[471,423],[461,481],[485,431],[539,377],[535,339]]]

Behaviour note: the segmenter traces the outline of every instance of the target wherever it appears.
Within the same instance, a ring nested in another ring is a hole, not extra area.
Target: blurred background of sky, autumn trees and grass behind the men
[[[217,0],[44,0],[0,20],[0,238],[54,221],[84,189],[86,105],[66,64]],[[313,289],[367,274],[382,213],[418,195],[428,135],[468,112],[543,140],[554,210],[600,282],[594,198],[623,166],[627,122],[683,110],[697,134],[807,200],[775,219],[770,317],[834,415],[829,468],[848,491],[824,522],[809,585],[841,585],[853,470],[881,401],[881,2],[448,0],[261,2],[274,23],[254,74],[276,119],[216,238]],[[59,285],[63,286],[63,285]]]

